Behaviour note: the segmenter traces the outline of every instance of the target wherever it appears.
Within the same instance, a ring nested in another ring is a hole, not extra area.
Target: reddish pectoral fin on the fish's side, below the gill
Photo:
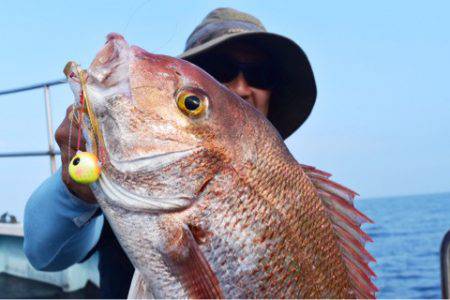
[[[201,252],[191,230],[182,225],[172,232],[164,253],[170,270],[179,278],[189,298],[223,298],[219,280]]]

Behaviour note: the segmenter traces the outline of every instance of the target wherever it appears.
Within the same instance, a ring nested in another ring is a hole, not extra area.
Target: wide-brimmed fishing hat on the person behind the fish
[[[179,57],[199,61],[202,55],[236,41],[261,49],[277,68],[279,78],[272,90],[267,118],[286,139],[306,121],[317,96],[311,65],[294,41],[267,32],[262,23],[249,14],[218,8],[194,29]]]

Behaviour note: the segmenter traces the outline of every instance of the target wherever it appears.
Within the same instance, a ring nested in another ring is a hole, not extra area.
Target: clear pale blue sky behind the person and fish
[[[212,9],[260,18],[307,53],[316,106],[287,144],[362,198],[450,191],[448,1],[0,1],[0,90],[87,66],[115,31],[151,52],[179,54]],[[54,126],[72,96],[51,90]],[[41,90],[0,97],[0,152],[45,150]],[[21,216],[48,159],[0,159],[0,212]]]

